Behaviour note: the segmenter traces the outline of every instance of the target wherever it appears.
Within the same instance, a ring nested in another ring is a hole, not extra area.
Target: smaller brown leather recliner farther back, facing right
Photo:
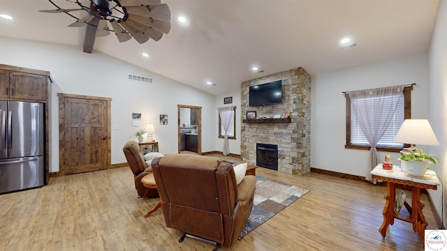
[[[133,172],[135,188],[138,192],[138,196],[158,197],[158,190],[153,188],[146,188],[141,183],[142,177],[152,173],[152,167],[147,167],[145,158],[140,151],[140,146],[138,145],[138,143],[134,141],[127,142],[126,144],[124,144],[123,152],[126,156],[127,162],[129,163],[129,167],[131,167],[131,170]]]

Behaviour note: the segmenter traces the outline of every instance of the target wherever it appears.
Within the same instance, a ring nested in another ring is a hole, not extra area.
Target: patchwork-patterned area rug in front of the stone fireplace
[[[253,209],[239,238],[249,234],[309,191],[281,181],[256,176]]]

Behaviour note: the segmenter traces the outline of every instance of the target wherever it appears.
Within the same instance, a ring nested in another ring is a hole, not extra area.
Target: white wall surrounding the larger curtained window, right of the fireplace
[[[411,91],[411,116],[427,119],[427,54],[312,76],[311,167],[366,176],[369,151],[344,149],[346,99],[342,92],[412,83],[416,86]],[[379,152],[380,158],[384,160],[385,154]],[[399,165],[399,155],[390,155],[393,164]]]

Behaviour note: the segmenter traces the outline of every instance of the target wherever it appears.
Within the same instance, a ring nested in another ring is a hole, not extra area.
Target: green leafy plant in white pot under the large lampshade
[[[439,162],[437,155],[426,154],[421,149],[414,149],[408,154],[401,155],[397,160],[401,161],[402,170],[411,176],[423,177],[427,168]]]

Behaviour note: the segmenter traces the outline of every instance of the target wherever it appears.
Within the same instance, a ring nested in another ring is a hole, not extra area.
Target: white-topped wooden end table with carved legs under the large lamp
[[[424,243],[425,228],[428,224],[422,212],[425,205],[420,202],[420,188],[437,190],[439,181],[436,173],[432,170],[427,170],[423,178],[416,178],[402,172],[402,169],[400,169],[399,166],[393,166],[392,170],[386,170],[382,168],[382,164],[379,164],[371,171],[371,174],[372,178],[387,182],[385,196],[386,203],[382,211],[383,223],[379,228],[382,237],[385,238],[388,225],[393,225],[394,219],[397,219],[412,223],[413,231],[419,234],[420,239]],[[394,210],[396,184],[409,185],[411,187],[411,206],[406,203],[406,201],[404,202],[404,206],[409,212],[408,218],[401,217]]]

